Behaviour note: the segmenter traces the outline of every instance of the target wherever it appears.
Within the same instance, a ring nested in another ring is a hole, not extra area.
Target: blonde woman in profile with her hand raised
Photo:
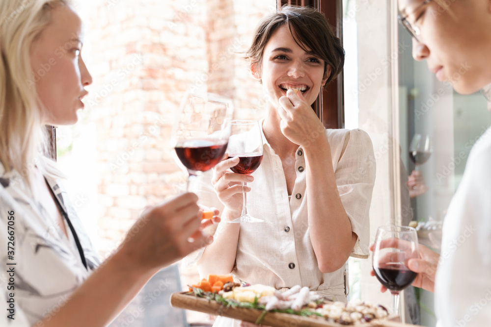
[[[106,326],[157,271],[211,241],[187,193],[146,208],[100,264],[42,154],[45,126],[74,124],[83,108],[82,45],[67,0],[0,1],[1,326]]]

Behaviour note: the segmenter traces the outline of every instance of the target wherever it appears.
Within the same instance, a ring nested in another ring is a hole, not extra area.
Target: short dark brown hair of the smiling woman
[[[345,53],[341,40],[334,35],[326,17],[317,9],[292,5],[284,5],[273,14],[264,17],[256,28],[252,45],[245,58],[256,66],[258,73],[261,73],[266,44],[273,33],[283,25],[288,26],[293,39],[302,50],[312,51],[324,60],[325,74],[327,65],[330,66],[331,72],[326,84],[336,78],[344,66]]]

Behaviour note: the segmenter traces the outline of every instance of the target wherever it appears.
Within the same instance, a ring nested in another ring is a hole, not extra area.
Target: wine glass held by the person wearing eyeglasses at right
[[[375,276],[392,293],[394,314],[399,315],[399,292],[416,278],[408,260],[419,258],[416,229],[408,226],[380,226],[375,235],[372,265]]]

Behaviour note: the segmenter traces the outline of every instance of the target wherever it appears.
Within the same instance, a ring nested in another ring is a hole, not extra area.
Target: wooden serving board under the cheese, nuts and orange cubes
[[[207,299],[198,298],[194,295],[187,295],[185,293],[172,293],[170,296],[170,304],[174,307],[188,309],[193,311],[199,311],[208,313],[215,316],[223,316],[228,318],[234,318],[244,320],[250,323],[255,323],[257,318],[263,313],[262,310],[238,308],[238,307],[225,307],[218,302],[209,301]],[[399,316],[389,317],[383,321],[373,321],[363,325],[363,327],[410,327],[414,325],[407,325],[398,323]],[[324,319],[316,319],[309,317],[302,317],[288,313],[268,312],[263,319],[262,324],[264,326],[271,327],[346,327],[337,323],[329,323]],[[356,326],[356,325],[355,325]],[[414,326],[416,327],[416,326]]]

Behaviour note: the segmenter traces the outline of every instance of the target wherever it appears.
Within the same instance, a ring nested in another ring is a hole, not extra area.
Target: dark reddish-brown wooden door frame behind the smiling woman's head
[[[284,4],[312,6],[326,16],[327,22],[343,44],[343,3],[342,0],[277,0],[279,8]],[[344,127],[344,77],[343,71],[332,80],[312,104],[319,119],[326,128]]]

